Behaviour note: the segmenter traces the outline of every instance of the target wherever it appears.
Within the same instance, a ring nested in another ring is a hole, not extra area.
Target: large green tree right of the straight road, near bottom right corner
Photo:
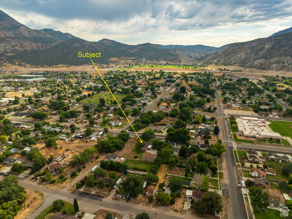
[[[263,192],[262,187],[252,186],[248,190],[248,194],[251,197],[251,206],[255,208],[256,212],[258,212],[258,209],[269,206],[268,200],[270,195],[267,192]]]

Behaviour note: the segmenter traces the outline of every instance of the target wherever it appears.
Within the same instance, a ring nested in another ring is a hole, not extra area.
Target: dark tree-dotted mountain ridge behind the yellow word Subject
[[[130,60],[169,61],[175,63],[192,63],[190,58],[169,51],[158,45],[145,43],[127,45],[114,40],[102,39],[88,42],[82,39],[67,39],[47,48],[6,56],[8,63],[26,63],[31,65],[84,65],[91,64],[90,58],[78,57],[78,53],[101,53],[101,57],[92,58],[95,63],[109,64],[111,58]]]

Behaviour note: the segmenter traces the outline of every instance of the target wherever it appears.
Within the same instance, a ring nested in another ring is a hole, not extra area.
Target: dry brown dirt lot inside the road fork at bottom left
[[[22,210],[20,210],[14,217],[15,219],[27,218],[27,216],[31,215],[36,209],[38,209],[46,199],[46,194],[31,189],[25,189],[25,191],[27,192],[27,200],[25,201],[24,205],[27,206],[29,204],[29,207],[22,208]],[[36,197],[35,200],[34,197]]]

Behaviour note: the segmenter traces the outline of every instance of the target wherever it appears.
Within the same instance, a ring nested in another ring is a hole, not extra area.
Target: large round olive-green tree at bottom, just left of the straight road
[[[201,197],[201,202],[208,213],[216,212],[219,214],[223,211],[223,200],[222,196],[217,192],[208,191]]]

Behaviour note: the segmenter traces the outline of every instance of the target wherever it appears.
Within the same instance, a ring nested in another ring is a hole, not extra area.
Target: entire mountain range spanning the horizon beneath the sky
[[[34,30],[0,10],[0,65],[83,65],[89,58],[78,52],[101,52],[96,63],[113,58],[131,61],[239,65],[246,68],[292,70],[292,27],[267,38],[232,43],[219,48],[204,45],[128,45],[110,39],[89,42],[70,33],[52,29]]]

